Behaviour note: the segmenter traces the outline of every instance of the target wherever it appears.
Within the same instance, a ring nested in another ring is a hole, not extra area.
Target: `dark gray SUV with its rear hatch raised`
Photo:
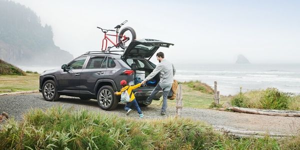
[[[155,68],[149,59],[159,47],[172,43],[155,39],[133,40],[125,50],[89,51],[78,56],[59,69],[43,71],[39,76],[39,91],[45,100],[55,101],[60,95],[79,97],[82,100],[97,99],[104,110],[114,109],[120,101],[114,91],[120,91],[121,80],[129,85],[140,82]],[[133,90],[141,103],[151,93],[160,79],[154,76],[145,85]],[[159,99],[161,91],[155,96]]]

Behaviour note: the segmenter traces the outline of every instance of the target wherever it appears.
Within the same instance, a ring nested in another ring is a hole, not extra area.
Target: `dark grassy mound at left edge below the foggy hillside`
[[[20,68],[0,59],[0,75],[26,75]]]

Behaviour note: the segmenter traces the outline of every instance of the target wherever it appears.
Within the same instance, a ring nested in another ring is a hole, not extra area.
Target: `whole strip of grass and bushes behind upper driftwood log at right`
[[[240,92],[230,101],[232,105],[239,107],[300,110],[300,95],[281,92],[276,88]]]

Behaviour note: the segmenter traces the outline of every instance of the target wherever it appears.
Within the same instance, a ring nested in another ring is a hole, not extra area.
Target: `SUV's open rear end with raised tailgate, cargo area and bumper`
[[[125,49],[121,58],[134,70],[134,84],[141,82],[155,68],[155,64],[149,61],[159,47],[169,47],[172,43],[163,42],[156,39],[133,40]],[[144,100],[151,93],[159,82],[159,73],[150,79],[146,86],[135,89],[136,100]],[[158,92],[154,99],[159,99],[161,92]]]

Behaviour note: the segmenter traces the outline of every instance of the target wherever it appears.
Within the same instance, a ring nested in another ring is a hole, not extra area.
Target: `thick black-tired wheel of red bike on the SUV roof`
[[[126,49],[127,46],[129,45],[129,43],[136,38],[136,34],[135,34],[135,31],[132,27],[124,27],[121,29],[121,31],[119,32],[118,34],[118,42],[119,42],[119,46],[122,48],[122,49]],[[121,37],[125,35],[126,37],[129,37],[129,40],[123,40],[124,38]],[[123,41],[122,41],[123,40]]]

